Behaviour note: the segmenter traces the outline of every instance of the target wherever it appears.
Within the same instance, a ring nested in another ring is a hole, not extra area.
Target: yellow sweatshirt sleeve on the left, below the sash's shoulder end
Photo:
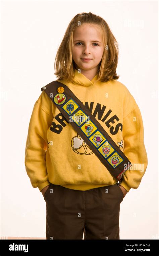
[[[43,92],[42,95],[44,95]],[[47,150],[47,130],[53,120],[51,112],[43,108],[40,101],[41,96],[34,104],[25,148],[25,168],[27,175],[30,178],[32,187],[38,187],[40,191],[50,184],[48,181],[45,154]]]

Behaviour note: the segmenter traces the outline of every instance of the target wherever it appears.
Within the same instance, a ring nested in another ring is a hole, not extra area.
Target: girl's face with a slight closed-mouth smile
[[[81,70],[97,69],[102,59],[104,45],[99,25],[83,24],[73,33],[72,57]],[[85,60],[90,59],[90,60]]]

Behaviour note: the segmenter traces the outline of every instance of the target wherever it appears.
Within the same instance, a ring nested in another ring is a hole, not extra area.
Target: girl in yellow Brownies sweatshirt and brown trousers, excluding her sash
[[[142,116],[127,87],[117,81],[117,62],[118,44],[105,20],[91,12],[77,14],[56,55],[57,81],[80,99],[139,168],[127,170],[118,185],[43,90],[29,123],[25,166],[46,202],[46,239],[82,239],[83,233],[84,239],[120,239],[120,203],[131,188],[139,187],[147,153]]]

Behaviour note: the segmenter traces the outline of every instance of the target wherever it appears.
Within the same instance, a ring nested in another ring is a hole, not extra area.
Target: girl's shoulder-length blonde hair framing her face
[[[102,29],[105,50],[99,63],[99,76],[96,81],[108,82],[112,79],[118,79],[119,76],[116,74],[119,56],[118,43],[106,21],[91,12],[78,13],[69,23],[55,57],[54,74],[57,76],[58,80],[65,79],[66,82],[73,80],[75,74],[75,63],[72,58],[72,49],[74,49],[73,31],[78,27],[78,24],[81,25],[84,23],[99,25]]]

